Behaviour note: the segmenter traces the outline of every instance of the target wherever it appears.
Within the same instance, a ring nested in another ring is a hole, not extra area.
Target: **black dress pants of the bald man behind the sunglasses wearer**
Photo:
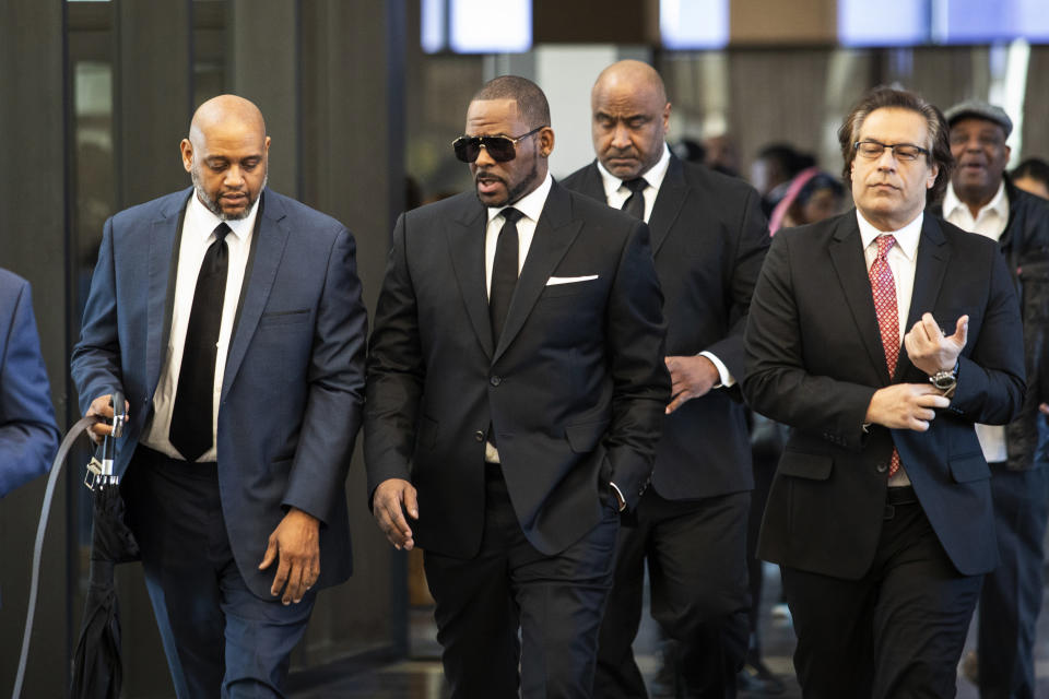
[[[645,561],[652,617],[676,643],[679,697],[734,697],[747,645],[750,493],[665,500],[653,488],[620,531],[615,583],[601,625],[596,699],[646,697],[632,644]]]

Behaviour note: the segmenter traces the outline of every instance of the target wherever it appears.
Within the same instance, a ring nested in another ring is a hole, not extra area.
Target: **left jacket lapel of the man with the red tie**
[[[871,293],[871,280],[867,273],[863,241],[854,211],[838,220],[830,241],[830,262],[845,292],[863,347],[882,382],[888,383],[888,365],[885,364],[882,332],[877,327],[877,311],[874,309],[874,296]]]

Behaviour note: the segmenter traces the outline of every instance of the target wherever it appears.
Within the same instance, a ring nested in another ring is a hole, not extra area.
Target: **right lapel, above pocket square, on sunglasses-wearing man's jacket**
[[[543,213],[535,224],[535,235],[528,249],[528,257],[524,258],[521,276],[517,280],[510,309],[506,315],[506,325],[495,348],[493,362],[506,352],[514,337],[520,332],[524,320],[539,300],[540,294],[543,293],[550,275],[579,235],[581,227],[582,222],[571,217],[571,200],[568,191],[554,182],[546,198],[546,204],[543,206]]]

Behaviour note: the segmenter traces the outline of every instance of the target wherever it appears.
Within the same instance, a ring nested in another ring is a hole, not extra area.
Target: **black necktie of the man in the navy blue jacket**
[[[186,461],[197,461],[214,442],[212,395],[222,305],[226,296],[229,252],[225,223],[215,228],[216,240],[204,253],[186,327],[182,365],[178,372],[168,439]]]

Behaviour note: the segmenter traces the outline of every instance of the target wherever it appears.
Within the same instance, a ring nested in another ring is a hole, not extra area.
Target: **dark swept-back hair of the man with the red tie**
[[[872,111],[887,108],[909,109],[924,117],[926,127],[929,131],[929,142],[932,145],[926,161],[930,165],[940,167],[935,183],[926,192],[926,202],[931,204],[939,201],[947,189],[951,170],[954,168],[954,156],[951,155],[951,140],[948,138],[950,129],[946,119],[943,118],[943,112],[935,105],[926,102],[921,95],[907,90],[895,90],[884,85],[875,87],[863,95],[849,111],[838,129],[838,143],[841,145],[841,158],[845,161],[841,170],[842,179],[851,188],[851,166],[856,158],[852,144],[856,143],[863,121]]]

